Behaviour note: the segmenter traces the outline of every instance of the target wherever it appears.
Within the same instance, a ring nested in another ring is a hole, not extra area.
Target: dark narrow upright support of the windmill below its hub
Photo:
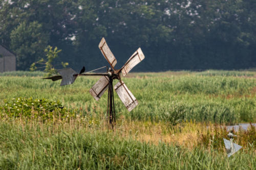
[[[108,117],[109,117],[109,124],[111,125],[111,127],[113,129],[116,124],[113,79],[110,79],[110,81],[109,81]]]

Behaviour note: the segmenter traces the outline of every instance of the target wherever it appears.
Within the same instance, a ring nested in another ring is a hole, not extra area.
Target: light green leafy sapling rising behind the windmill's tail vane
[[[52,63],[53,63],[53,60],[58,57],[59,52],[61,52],[61,50],[58,50],[57,47],[55,47],[54,50],[52,50],[52,46],[48,45],[47,48],[45,49],[47,60],[45,60],[44,58],[41,58],[37,62],[34,62],[33,64],[31,64],[30,70],[34,71],[36,69],[45,68],[44,71],[47,72],[46,76],[57,74],[57,69],[54,68]],[[37,67],[36,66],[37,64],[44,65],[44,66]],[[61,62],[61,65],[63,67],[66,67],[67,65],[69,65],[69,63]]]

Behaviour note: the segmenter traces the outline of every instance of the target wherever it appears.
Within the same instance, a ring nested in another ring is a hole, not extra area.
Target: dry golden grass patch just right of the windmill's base
[[[122,122],[122,125],[117,125],[115,133],[124,138],[133,137],[141,142],[165,142],[193,148],[197,145],[198,132],[204,129],[203,126],[205,125],[192,122],[175,127],[164,123]]]

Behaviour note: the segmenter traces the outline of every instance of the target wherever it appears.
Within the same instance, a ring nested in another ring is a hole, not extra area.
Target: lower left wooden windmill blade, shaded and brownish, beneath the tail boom
[[[109,77],[102,76],[90,89],[91,95],[98,101],[109,86]]]

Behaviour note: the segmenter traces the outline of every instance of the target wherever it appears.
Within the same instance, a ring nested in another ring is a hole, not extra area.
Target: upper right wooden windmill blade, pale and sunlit
[[[125,76],[131,69],[145,58],[141,48],[139,48],[130,59],[121,68],[123,76]]]

